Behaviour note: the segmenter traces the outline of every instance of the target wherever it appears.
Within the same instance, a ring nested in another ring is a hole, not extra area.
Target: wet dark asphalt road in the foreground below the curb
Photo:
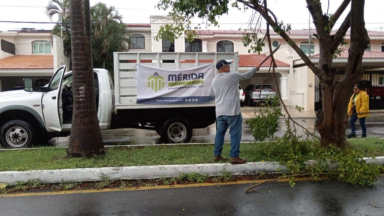
[[[380,178],[373,187],[265,183],[247,194],[249,184],[10,197],[0,198],[0,216],[381,216],[383,185]]]

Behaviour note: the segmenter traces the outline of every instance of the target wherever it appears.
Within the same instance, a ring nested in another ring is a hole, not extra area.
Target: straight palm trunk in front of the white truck
[[[73,117],[68,156],[103,154],[96,111],[89,0],[70,0]]]

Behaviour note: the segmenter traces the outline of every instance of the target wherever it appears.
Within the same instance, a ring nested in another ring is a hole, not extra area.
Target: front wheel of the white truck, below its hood
[[[35,140],[35,131],[22,120],[12,120],[0,129],[0,141],[4,148],[26,148]]]

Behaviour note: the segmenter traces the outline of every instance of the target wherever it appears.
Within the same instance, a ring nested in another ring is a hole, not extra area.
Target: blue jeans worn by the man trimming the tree
[[[242,135],[242,115],[225,116],[221,115],[216,118],[216,137],[214,155],[219,156],[223,151],[224,136],[229,126],[229,134],[231,135],[231,153],[230,157],[235,158],[240,153],[240,140]]]

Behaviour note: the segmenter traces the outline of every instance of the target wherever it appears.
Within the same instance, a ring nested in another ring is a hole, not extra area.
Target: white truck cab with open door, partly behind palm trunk
[[[73,112],[72,71],[61,66],[48,85],[35,89],[24,79],[24,90],[0,93],[0,145],[25,148],[53,137],[68,136]],[[109,129],[114,111],[111,75],[94,69],[96,107],[101,130]]]

